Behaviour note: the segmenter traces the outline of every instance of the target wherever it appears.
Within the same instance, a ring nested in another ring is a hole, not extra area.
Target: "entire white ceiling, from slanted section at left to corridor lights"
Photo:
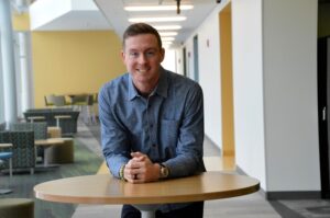
[[[30,0],[31,1],[31,0]],[[30,3],[32,3],[31,1]],[[48,0],[48,1],[34,1],[30,7],[30,12],[34,8],[41,8],[46,5],[40,12],[50,14],[54,11],[54,8],[62,8],[63,13],[56,18],[50,20],[41,16],[41,23],[33,31],[87,31],[87,30],[114,30],[114,32],[121,37],[124,30],[131,24],[130,18],[145,18],[145,16],[186,16],[185,21],[180,22],[162,22],[150,23],[152,25],[173,25],[179,24],[182,28],[176,31],[177,35],[172,44],[172,47],[180,45],[187,39],[196,30],[197,26],[206,19],[206,16],[217,7],[217,0],[180,0],[180,8],[185,4],[193,4],[193,10],[180,10],[180,14],[177,11],[166,12],[128,12],[124,10],[127,5],[175,5],[176,0],[72,0],[72,4],[78,2],[79,5],[87,3],[91,5],[89,9],[73,9],[65,10],[68,3],[67,0]],[[34,4],[34,5],[33,5]],[[77,4],[77,3],[76,3]],[[79,8],[79,7],[77,7]],[[84,8],[84,7],[81,7]],[[30,13],[31,14],[31,13]],[[32,24],[33,25],[33,24]]]

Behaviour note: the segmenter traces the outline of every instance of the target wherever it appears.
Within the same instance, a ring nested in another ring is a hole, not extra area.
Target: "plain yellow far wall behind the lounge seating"
[[[44,95],[95,93],[125,68],[112,31],[32,32],[35,107]]]

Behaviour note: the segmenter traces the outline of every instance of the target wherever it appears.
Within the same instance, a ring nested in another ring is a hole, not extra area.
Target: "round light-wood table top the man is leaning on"
[[[257,180],[206,172],[182,179],[131,184],[109,174],[84,175],[41,183],[35,197],[73,204],[165,204],[228,198],[258,191]]]

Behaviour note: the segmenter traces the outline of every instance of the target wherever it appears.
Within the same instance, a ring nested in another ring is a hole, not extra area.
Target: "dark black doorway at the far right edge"
[[[318,114],[321,197],[330,198],[330,1],[318,4]]]

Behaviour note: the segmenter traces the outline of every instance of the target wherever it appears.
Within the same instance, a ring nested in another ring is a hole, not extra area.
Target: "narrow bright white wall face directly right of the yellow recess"
[[[266,188],[262,0],[232,1],[234,140],[237,164]]]

